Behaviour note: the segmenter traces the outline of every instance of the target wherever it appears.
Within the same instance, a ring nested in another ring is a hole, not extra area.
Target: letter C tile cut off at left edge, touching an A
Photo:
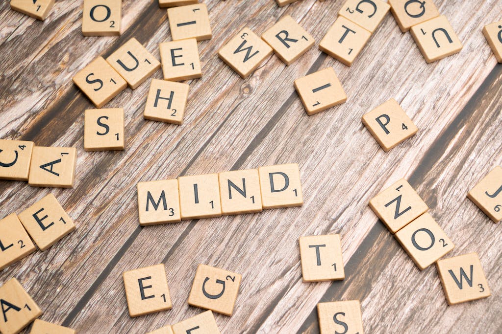
[[[0,139],[0,180],[28,181],[35,143]]]

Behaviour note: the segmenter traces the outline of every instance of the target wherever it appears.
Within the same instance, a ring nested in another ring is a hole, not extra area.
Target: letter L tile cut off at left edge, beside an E
[[[35,250],[35,245],[15,213],[0,219],[0,270]]]

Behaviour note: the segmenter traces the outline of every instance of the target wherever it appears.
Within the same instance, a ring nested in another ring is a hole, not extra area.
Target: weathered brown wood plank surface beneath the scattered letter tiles
[[[342,1],[205,3],[213,38],[199,42],[203,76],[188,82],[183,125],[144,120],[147,80],[106,105],[124,108],[126,150],[92,153],[83,150],[83,114],[92,105],[72,76],[132,37],[160,59],[158,44],[171,40],[166,10],[155,0],[124,2],[119,38],[84,38],[82,2],[57,1],[44,22],[0,4],[0,138],[72,146],[78,157],[73,189],[0,181],[0,217],[51,192],[77,225],[0,272],[0,283],[17,277],[42,319],[83,333],[143,333],[198,314],[187,297],[199,263],[242,274],[233,315],[215,314],[224,334],[318,333],[316,304],[340,299],[361,301],[368,333],[502,331],[502,231],[466,198],[502,164],[502,67],[481,33],[502,4],[437,0],[464,48],[429,65],[388,14],[348,68],[317,49]],[[242,27],[261,35],[284,15],[316,40],[297,62],[286,67],[271,56],[242,80],[218,59]],[[347,102],[309,117],[293,80],[328,66]],[[385,153],[360,117],[390,98],[419,132]],[[300,165],[302,207],[139,225],[138,182],[281,163]],[[447,306],[434,267],[420,272],[369,209],[368,200],[401,177],[456,244],[451,256],[479,254],[491,297]],[[298,237],[328,233],[341,234],[345,280],[302,283]],[[173,309],[132,319],[121,274],[157,263],[166,266]]]

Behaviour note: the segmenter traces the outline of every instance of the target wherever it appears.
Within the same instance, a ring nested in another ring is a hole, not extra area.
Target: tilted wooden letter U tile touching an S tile
[[[160,62],[135,38],[118,48],[106,61],[132,89],[160,69]]]

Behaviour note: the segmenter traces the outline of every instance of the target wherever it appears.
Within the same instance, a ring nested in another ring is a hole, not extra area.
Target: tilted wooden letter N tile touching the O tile
[[[369,207],[379,216],[391,233],[396,233],[429,207],[407,180],[401,179],[369,201]]]

